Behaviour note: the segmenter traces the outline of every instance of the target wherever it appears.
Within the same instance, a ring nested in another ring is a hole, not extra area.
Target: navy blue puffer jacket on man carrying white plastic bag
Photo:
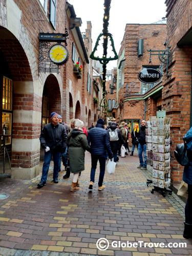
[[[109,133],[101,124],[97,124],[94,129],[91,129],[88,133],[88,143],[91,143],[91,153],[97,155],[112,155],[110,147]]]

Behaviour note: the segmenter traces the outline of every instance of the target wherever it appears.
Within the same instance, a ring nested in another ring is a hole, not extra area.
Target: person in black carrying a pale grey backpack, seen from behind
[[[117,162],[117,151],[123,145],[123,138],[120,130],[117,128],[116,123],[112,122],[108,129],[110,137],[110,146],[113,152],[114,162]]]

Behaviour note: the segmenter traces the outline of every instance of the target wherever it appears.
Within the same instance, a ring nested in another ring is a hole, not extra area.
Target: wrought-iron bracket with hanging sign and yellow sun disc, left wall
[[[69,59],[69,52],[67,48],[65,48],[65,46],[68,45],[67,39],[69,38],[67,28],[65,29],[65,32],[65,34],[39,33],[39,72],[59,73],[59,67],[67,63]],[[63,46],[61,43],[64,43],[65,46]],[[58,50],[53,48],[54,45],[56,48],[58,48]],[[52,52],[54,50],[60,52],[57,54],[55,53],[55,55],[51,52],[53,55],[52,57],[50,55],[51,49],[53,49]]]

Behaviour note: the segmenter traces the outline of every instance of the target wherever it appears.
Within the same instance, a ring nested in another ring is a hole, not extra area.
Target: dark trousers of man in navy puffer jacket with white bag
[[[95,182],[95,171],[97,168],[98,160],[100,164],[98,186],[101,187],[103,184],[103,178],[104,178],[104,172],[105,172],[106,155],[91,154],[91,180],[90,181]]]

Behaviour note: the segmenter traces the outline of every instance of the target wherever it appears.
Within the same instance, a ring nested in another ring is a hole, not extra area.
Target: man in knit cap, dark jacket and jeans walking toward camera
[[[45,148],[45,162],[42,166],[41,181],[37,184],[37,188],[42,188],[46,185],[52,156],[54,162],[53,181],[58,183],[59,157],[60,153],[66,151],[66,140],[66,129],[58,123],[58,114],[52,112],[51,123],[45,125],[40,134],[40,144],[42,148]]]

